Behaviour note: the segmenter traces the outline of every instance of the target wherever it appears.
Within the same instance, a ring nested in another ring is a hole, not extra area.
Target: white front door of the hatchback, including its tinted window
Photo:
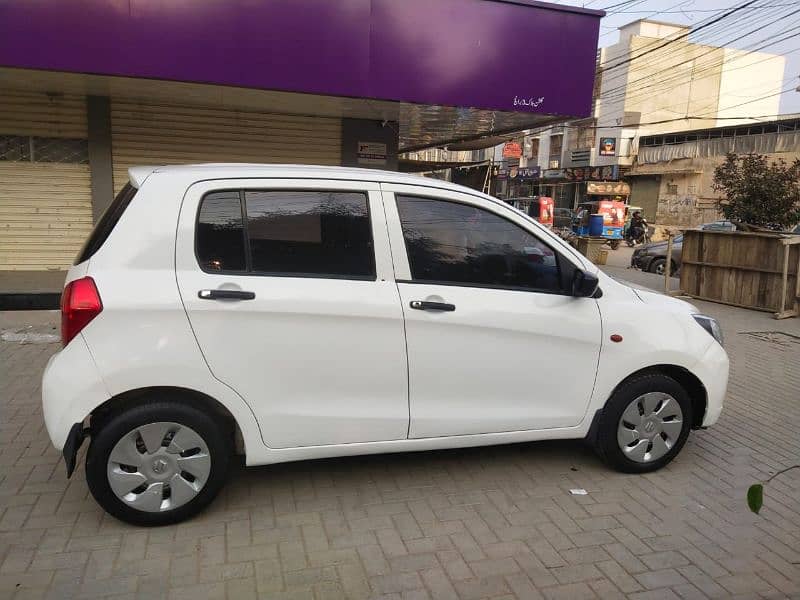
[[[409,436],[577,425],[601,323],[595,299],[566,291],[575,263],[509,207],[422,186],[382,189],[405,312]]]

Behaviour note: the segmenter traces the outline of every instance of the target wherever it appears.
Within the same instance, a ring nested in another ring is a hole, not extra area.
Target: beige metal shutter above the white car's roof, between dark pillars
[[[341,121],[112,100],[114,188],[136,165],[205,162],[341,164]]]

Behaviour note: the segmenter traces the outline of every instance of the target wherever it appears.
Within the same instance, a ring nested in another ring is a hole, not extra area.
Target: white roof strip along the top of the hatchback
[[[138,188],[153,173],[193,176],[199,179],[234,179],[239,177],[264,177],[282,179],[346,179],[396,183],[405,185],[425,185],[440,189],[468,191],[473,195],[491,198],[472,188],[465,188],[448,181],[422,177],[409,173],[384,171],[380,169],[360,169],[356,167],[332,167],[325,165],[295,164],[256,164],[256,163],[207,163],[191,165],[141,166],[128,169],[131,184]],[[496,200],[495,198],[492,198]]]

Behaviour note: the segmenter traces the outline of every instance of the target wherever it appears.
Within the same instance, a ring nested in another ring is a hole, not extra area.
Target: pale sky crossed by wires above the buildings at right
[[[670,23],[701,26],[732,8],[747,4],[747,0],[550,0],[555,4],[585,6],[604,9],[607,15],[600,24],[602,48],[617,42],[617,28],[638,19],[654,19]],[[752,30],[752,33],[749,33]],[[747,34],[747,35],[744,35]],[[744,35],[739,40],[730,41]],[[695,39],[697,38],[697,39]],[[782,41],[775,41],[786,38]],[[762,46],[761,52],[786,55],[784,86],[781,89],[765,90],[781,94],[780,112],[800,113],[800,1],[756,0],[726,17],[718,24],[709,26],[689,37],[690,41],[713,46],[749,49]],[[730,42],[729,42],[730,41]],[[746,107],[742,107],[746,109]]]

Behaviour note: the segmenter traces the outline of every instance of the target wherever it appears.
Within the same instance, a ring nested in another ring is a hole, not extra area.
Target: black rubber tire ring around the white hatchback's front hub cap
[[[636,462],[623,453],[617,442],[617,427],[622,413],[631,402],[648,392],[665,392],[677,400],[683,413],[680,435],[661,458],[651,462]],[[609,398],[597,424],[595,450],[609,466],[623,473],[649,473],[668,464],[683,448],[692,424],[692,402],[686,390],[674,379],[661,373],[636,375],[623,382]]]

